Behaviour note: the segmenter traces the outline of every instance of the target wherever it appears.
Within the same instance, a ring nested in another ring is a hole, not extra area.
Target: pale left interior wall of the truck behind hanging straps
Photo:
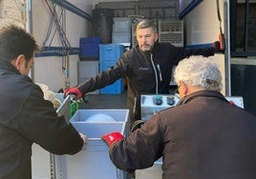
[[[50,1],[48,1],[51,4]],[[69,3],[87,13],[93,10],[93,0],[79,1],[69,0]],[[65,10],[65,14],[61,13],[60,7],[56,6],[60,26],[63,27],[66,37],[72,48],[79,48],[80,37],[88,37],[91,35],[92,23],[82,18],[70,10]],[[45,1],[32,1],[32,34],[34,35],[38,45],[43,46],[48,30],[50,29],[51,11]],[[64,22],[62,19],[65,17]],[[45,46],[62,47],[62,42],[56,25],[53,23],[51,36],[46,41]],[[71,54],[70,57],[70,85],[77,85],[77,61],[78,54]],[[43,83],[54,92],[65,88],[65,79],[67,71],[63,69],[62,56],[43,56],[34,58],[34,69],[32,79],[35,83]]]

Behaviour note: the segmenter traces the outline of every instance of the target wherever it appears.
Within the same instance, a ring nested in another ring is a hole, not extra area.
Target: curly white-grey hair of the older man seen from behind
[[[178,83],[221,91],[222,74],[215,62],[201,55],[183,59],[174,71],[174,79]]]

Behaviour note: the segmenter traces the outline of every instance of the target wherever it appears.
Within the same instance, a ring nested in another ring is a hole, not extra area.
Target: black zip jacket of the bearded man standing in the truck
[[[111,85],[121,77],[127,77],[127,105],[131,114],[140,119],[140,95],[169,93],[173,67],[193,54],[213,55],[215,50],[178,48],[169,43],[156,43],[154,50],[144,52],[139,46],[129,50],[117,60],[116,66],[98,73],[78,89],[83,94]],[[152,60],[151,60],[152,59]],[[154,66],[153,66],[154,64]]]

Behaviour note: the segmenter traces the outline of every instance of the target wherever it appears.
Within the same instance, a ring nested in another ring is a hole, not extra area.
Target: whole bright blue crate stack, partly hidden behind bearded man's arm
[[[124,52],[123,45],[102,44],[99,45],[99,70],[107,70],[116,65],[117,59]],[[118,79],[114,84],[99,89],[101,94],[119,94],[124,89],[123,78]]]

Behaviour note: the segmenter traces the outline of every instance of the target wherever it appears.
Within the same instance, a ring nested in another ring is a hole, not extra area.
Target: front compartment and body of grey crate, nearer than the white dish
[[[124,122],[86,123],[72,122],[79,132],[87,135],[87,143],[75,155],[55,155],[57,179],[128,179],[129,174],[117,169],[109,157],[109,147],[100,138],[112,131],[124,134]]]

